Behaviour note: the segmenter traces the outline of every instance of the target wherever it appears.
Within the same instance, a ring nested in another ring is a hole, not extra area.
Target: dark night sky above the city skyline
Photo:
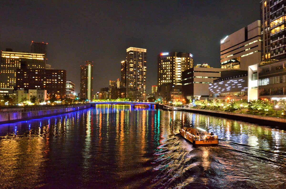
[[[219,67],[220,39],[258,20],[259,1],[1,1],[0,49],[48,43],[48,63],[67,70],[77,93],[80,65],[94,61],[95,93],[120,78],[126,48],[145,48],[150,93],[157,54],[189,52],[194,64]]]

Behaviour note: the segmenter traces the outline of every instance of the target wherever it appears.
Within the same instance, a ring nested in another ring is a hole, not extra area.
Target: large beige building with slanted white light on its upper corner
[[[247,70],[261,62],[260,20],[221,39],[221,68]]]

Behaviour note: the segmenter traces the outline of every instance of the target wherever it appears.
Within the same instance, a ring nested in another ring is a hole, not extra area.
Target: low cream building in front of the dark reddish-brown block
[[[21,103],[23,102],[23,99],[27,99],[30,101],[31,96],[37,96],[37,102],[38,104],[40,102],[43,102],[45,100],[48,100],[47,98],[47,90],[40,90],[40,89],[18,89],[15,91],[16,92],[16,98],[15,98],[15,103]]]

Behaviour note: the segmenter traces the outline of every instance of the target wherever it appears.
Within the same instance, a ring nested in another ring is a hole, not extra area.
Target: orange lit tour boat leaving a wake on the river
[[[217,135],[206,132],[206,130],[196,127],[183,127],[180,134],[194,145],[213,145],[219,144]]]

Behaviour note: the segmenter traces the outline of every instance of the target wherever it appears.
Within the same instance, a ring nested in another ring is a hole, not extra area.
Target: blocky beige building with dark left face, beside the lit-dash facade
[[[221,78],[221,68],[190,68],[182,72],[182,95],[189,100],[208,100],[208,86]]]

